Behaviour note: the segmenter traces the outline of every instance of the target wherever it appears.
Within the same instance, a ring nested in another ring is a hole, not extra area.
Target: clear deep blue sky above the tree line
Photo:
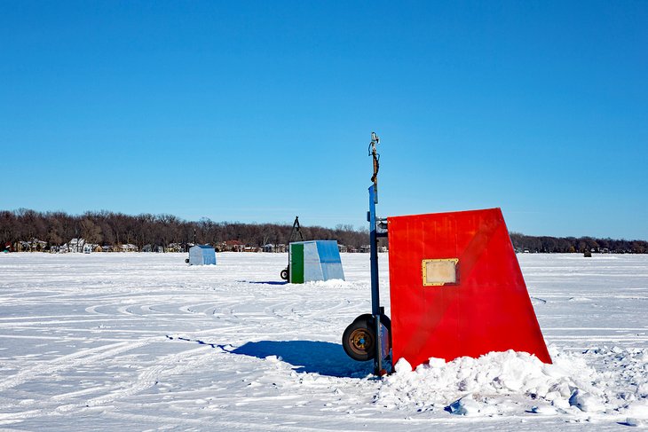
[[[648,239],[648,2],[0,1],[0,209]]]

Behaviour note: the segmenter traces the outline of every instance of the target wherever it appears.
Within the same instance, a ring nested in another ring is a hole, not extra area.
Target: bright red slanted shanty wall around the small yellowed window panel
[[[517,350],[551,363],[499,208],[388,218],[394,362]],[[456,284],[423,286],[422,263],[458,258]]]

